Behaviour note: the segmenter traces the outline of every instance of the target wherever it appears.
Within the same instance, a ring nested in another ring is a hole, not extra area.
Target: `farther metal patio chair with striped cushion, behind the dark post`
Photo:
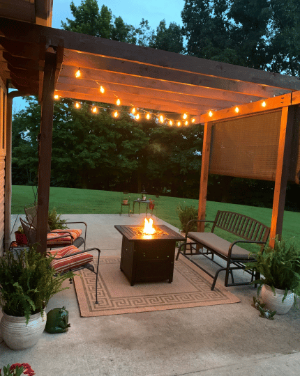
[[[38,207],[37,205],[31,205],[30,207],[24,207],[24,211],[26,214],[27,222],[30,226],[36,228],[37,225],[37,214],[38,214]],[[48,225],[47,228],[47,248],[57,248],[61,246],[68,246],[74,245],[80,247],[84,244],[84,249],[86,248],[86,240],[87,240],[87,224],[85,222],[66,222],[66,224],[84,224],[85,231],[84,236],[82,235],[82,230],[79,229],[70,229],[66,228],[63,230],[56,229],[50,230]],[[64,236],[59,236],[64,235]]]

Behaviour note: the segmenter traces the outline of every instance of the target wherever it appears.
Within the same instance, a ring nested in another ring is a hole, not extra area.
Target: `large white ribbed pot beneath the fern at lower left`
[[[36,345],[43,334],[46,321],[47,315],[45,312],[43,317],[40,313],[31,315],[28,324],[26,324],[26,318],[3,313],[0,322],[1,336],[10,349],[27,349]]]

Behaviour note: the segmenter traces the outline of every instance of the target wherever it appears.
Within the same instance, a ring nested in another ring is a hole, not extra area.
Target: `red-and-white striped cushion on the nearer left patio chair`
[[[87,263],[93,261],[93,255],[91,253],[80,253],[80,255],[70,256],[67,258],[61,258],[63,256],[69,256],[73,253],[79,252],[80,250],[76,246],[65,246],[64,248],[54,249],[49,251],[51,256],[54,256],[50,266],[53,267],[57,272],[67,272],[70,269],[75,269],[77,267],[82,267]]]

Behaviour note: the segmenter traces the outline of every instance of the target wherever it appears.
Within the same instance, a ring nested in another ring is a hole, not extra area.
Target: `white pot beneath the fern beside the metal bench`
[[[280,290],[276,288],[275,295],[274,295],[270,286],[263,285],[261,295],[262,295],[262,301],[264,301],[264,304],[266,304],[266,307],[270,311],[276,311],[278,315],[284,315],[285,313],[290,311],[290,308],[292,308],[292,305],[294,304],[294,292],[289,291],[287,293],[287,297],[283,301],[285,290]]]

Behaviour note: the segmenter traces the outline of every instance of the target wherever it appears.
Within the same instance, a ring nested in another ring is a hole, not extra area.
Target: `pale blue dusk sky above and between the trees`
[[[73,19],[70,12],[71,0],[53,0],[52,27],[61,29],[61,21],[66,22],[66,18]],[[75,6],[80,6],[81,0],[73,0]],[[126,24],[139,26],[142,18],[149,21],[151,29],[156,27],[165,19],[167,26],[170,22],[182,25],[181,10],[183,10],[184,0],[102,0],[98,1],[98,6],[107,6],[112,10],[112,15],[123,18]],[[24,109],[26,102],[22,98],[13,100],[13,112]]]

